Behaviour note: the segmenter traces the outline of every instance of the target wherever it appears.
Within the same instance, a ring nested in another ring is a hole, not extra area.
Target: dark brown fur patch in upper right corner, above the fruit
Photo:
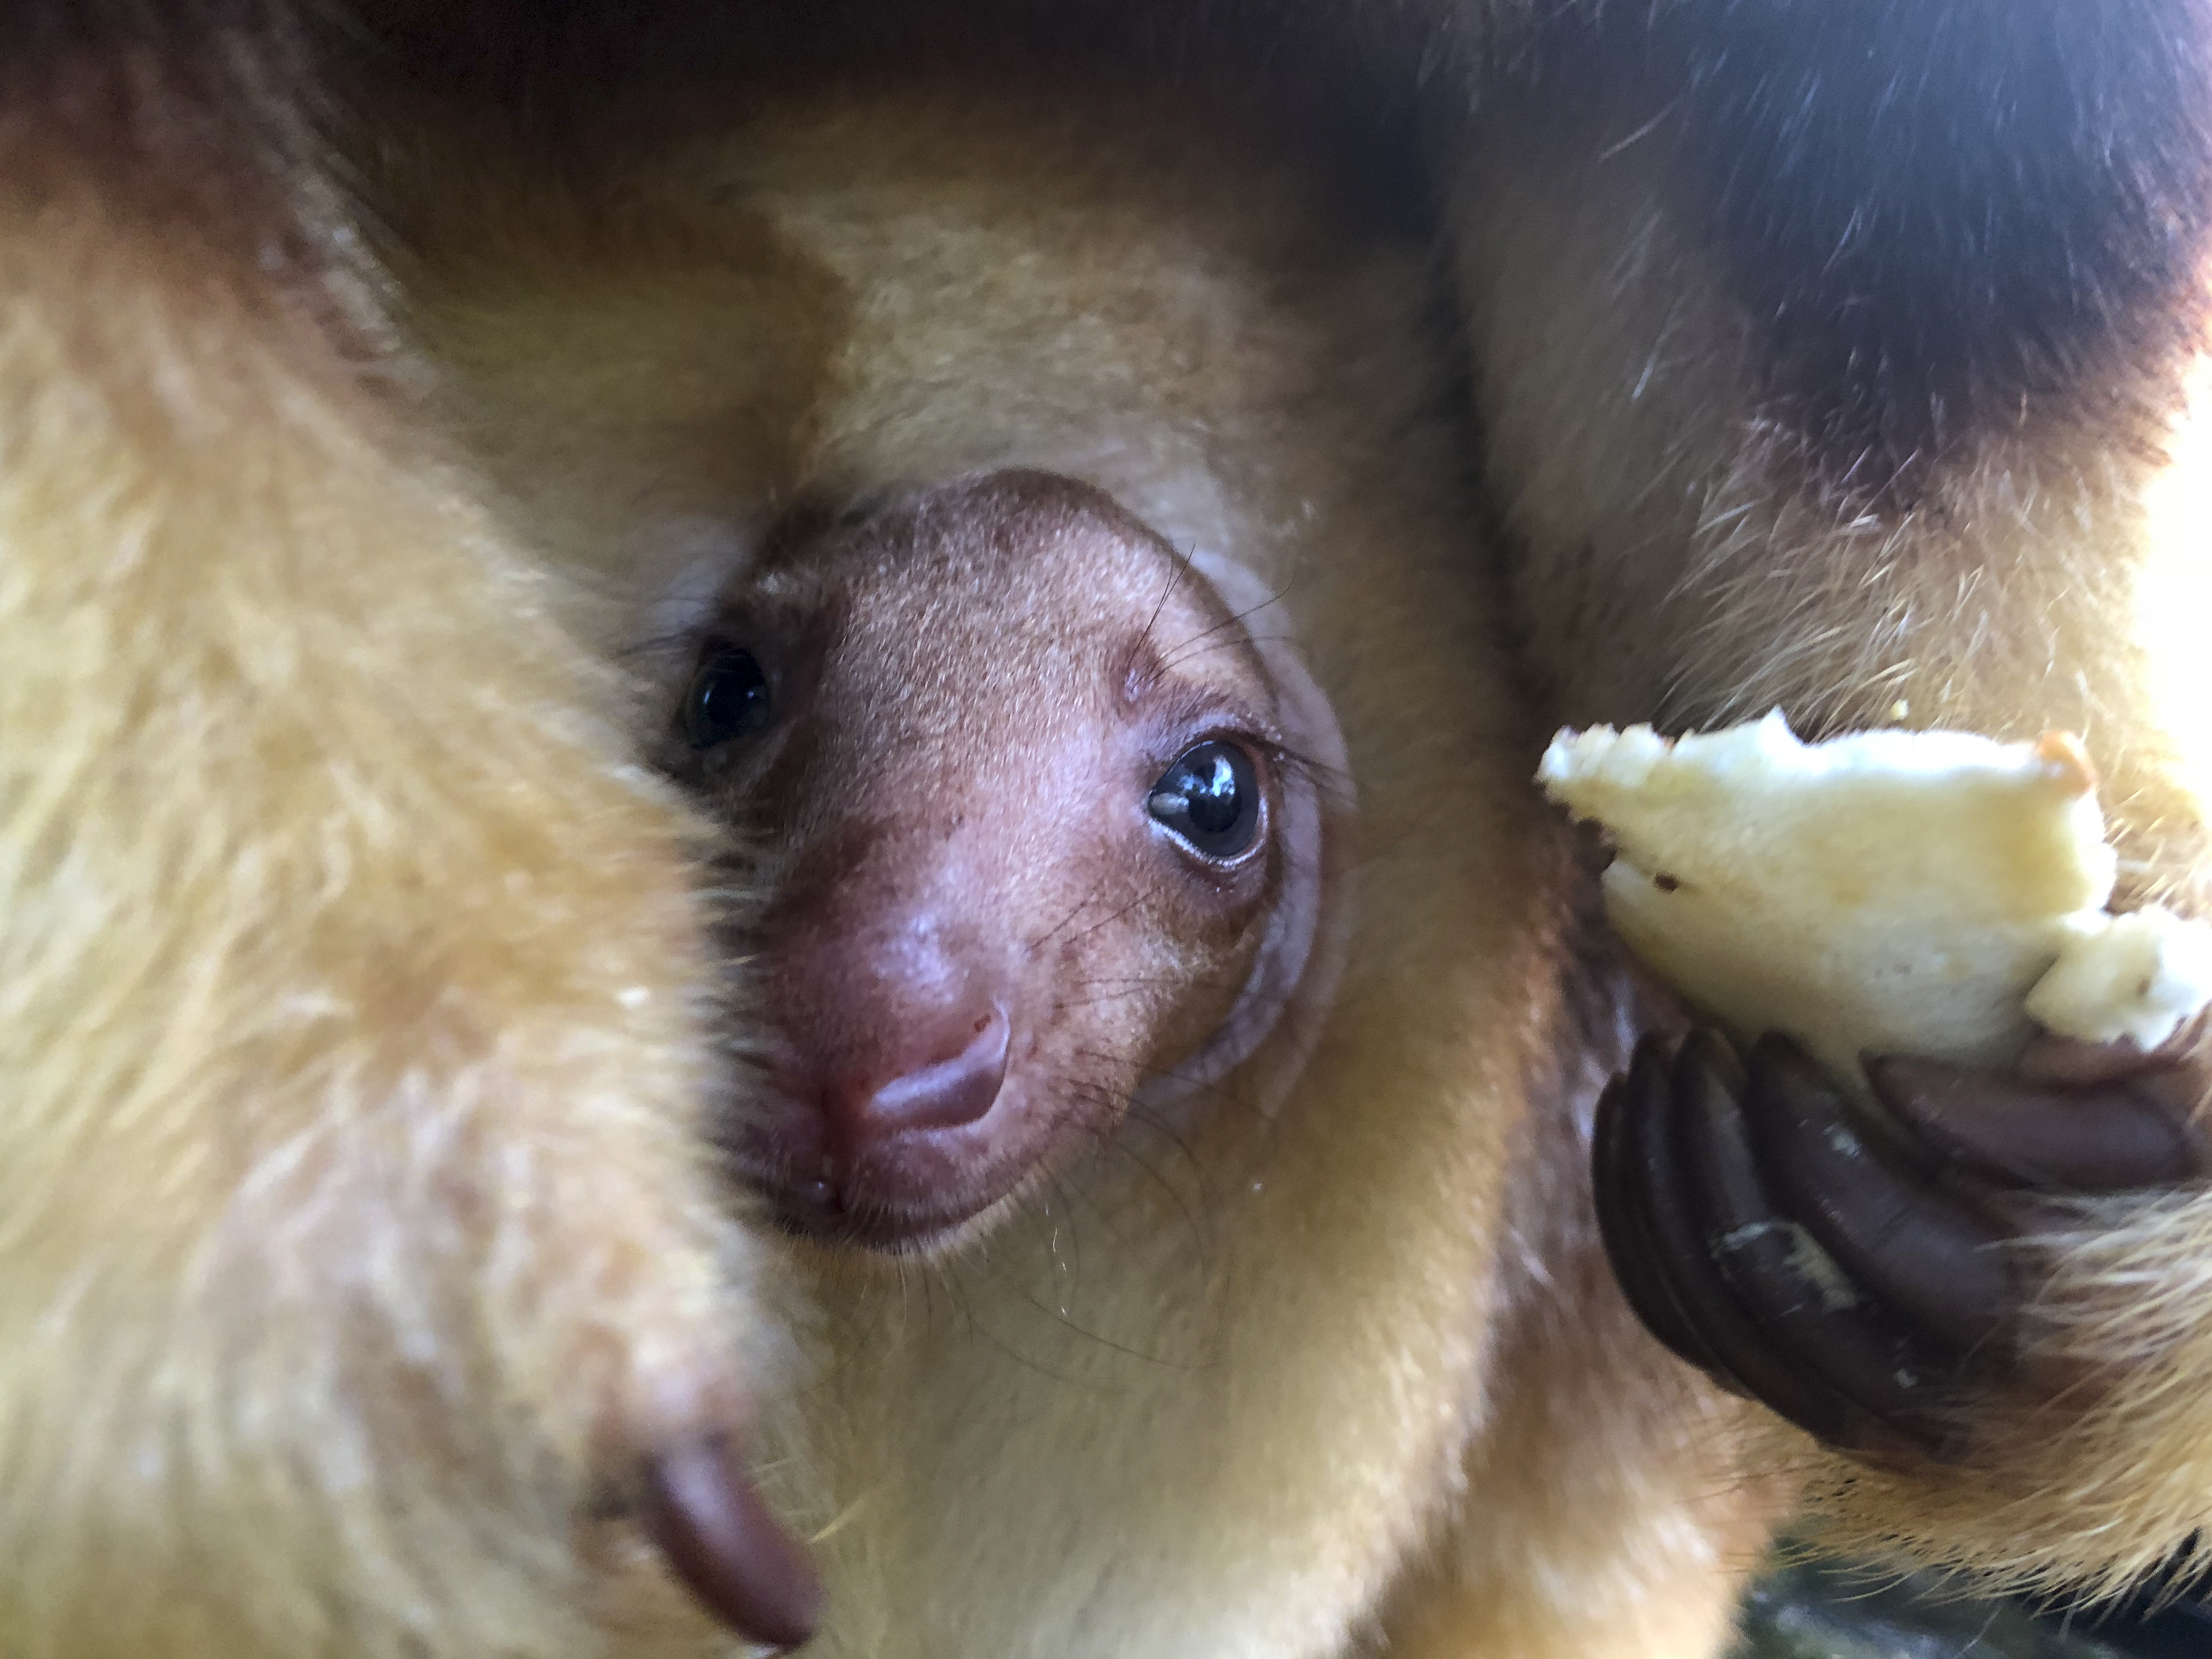
[[[1829,482],[1909,500],[1984,434],[2126,442],[2201,330],[2212,22],[2190,0],[1577,9],[1548,91],[1628,69],[1688,137],[1763,354]]]

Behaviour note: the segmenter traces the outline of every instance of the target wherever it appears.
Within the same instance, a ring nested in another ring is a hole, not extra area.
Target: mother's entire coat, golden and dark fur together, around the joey
[[[1809,1469],[1863,1535],[2011,1575],[2126,1575],[2212,1524],[2201,1194],[2106,1214],[2059,1267],[2117,1380],[1991,1413],[1958,1464],[1745,1431],[1628,1325],[1573,1113],[1628,1011],[1513,794],[1537,712],[2073,726],[2135,894],[2199,900],[2203,11],[951,11],[0,20],[0,1650],[695,1650],[717,1637],[626,1500],[639,1462],[728,1431],[823,1460],[768,1480],[827,1522],[832,1588],[872,1586],[834,1615],[858,1650],[1694,1652],[1763,1520],[1739,1467]],[[1241,100],[1325,142],[1239,148]],[[1146,153],[1155,111],[1188,150]],[[754,168],[721,221],[635,190],[699,135]],[[872,206],[838,204],[854,155],[896,186]],[[1416,155],[1442,206],[1378,184]],[[1088,294],[1024,285],[1033,206],[1099,237],[1062,270],[1124,283],[1113,349],[1055,385],[1029,347],[1057,336],[984,312],[902,361],[900,294],[978,270],[1082,321]],[[1464,387],[1402,356],[1427,234]],[[1219,376],[1166,349],[1214,336],[1141,319],[1208,283]],[[1389,343],[1363,356],[1369,305]],[[542,338],[568,372],[533,385]],[[1161,363],[1099,389],[1128,341]],[[1431,927],[1409,1006],[1378,978],[1321,1064],[1347,1117],[1405,1066],[1464,1064],[1484,1106],[1431,1091],[1418,1133],[1254,1172],[1237,1248],[1263,1276],[1223,1281],[1243,1323],[1197,1323],[1237,1363],[1139,1367],[1157,1440],[730,1221],[701,1155],[732,1086],[701,825],[580,644],[602,577],[655,551],[626,540],[639,500],[741,524],[799,480],[998,462],[975,438],[1031,385],[1057,420],[1113,405],[1121,460],[1042,460],[1155,526],[1234,538],[1239,502],[1274,524],[1307,493],[1343,515],[1376,564],[1314,571],[1301,630],[1345,628],[1378,730],[1405,708],[1462,743],[1436,763],[1464,765],[1438,787],[1469,841],[1422,854],[1473,865],[1444,898],[1480,940]],[[1243,456],[1285,465],[1228,507],[1152,489]],[[677,487],[597,489],[639,467]],[[1462,571],[1402,551],[1460,520]],[[1433,1046],[1360,1051],[1398,1018]],[[799,1371],[783,1332],[880,1329],[907,1394],[832,1369],[814,1422],[761,1420]],[[1011,1427],[975,1447],[984,1387]],[[900,1458],[927,1467],[872,1489]],[[1192,1464],[1234,1524],[1199,1544],[1152,1509]]]

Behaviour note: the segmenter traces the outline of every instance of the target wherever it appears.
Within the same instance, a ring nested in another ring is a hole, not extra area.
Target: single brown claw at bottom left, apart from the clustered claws
[[[770,1648],[814,1635],[823,1599],[814,1564],[761,1502],[728,1438],[655,1458],[639,1522],[668,1568],[737,1635]]]

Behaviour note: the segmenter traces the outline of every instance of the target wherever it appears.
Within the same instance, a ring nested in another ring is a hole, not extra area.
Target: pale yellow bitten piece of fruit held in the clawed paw
[[[2000,1066],[2037,1024],[2152,1048],[2212,1000],[2212,929],[2104,909],[2117,858],[2066,732],[1801,743],[1776,710],[1562,730],[1537,781],[1613,836],[1606,914],[1652,971],[1838,1077],[1867,1053]]]

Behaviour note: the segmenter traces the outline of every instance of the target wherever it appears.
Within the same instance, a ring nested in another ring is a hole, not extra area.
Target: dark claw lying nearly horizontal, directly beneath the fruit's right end
[[[1898,1055],[1869,1060],[1867,1077],[1942,1157],[2004,1186],[2124,1192],[2199,1175],[2188,1117],[2124,1084],[2042,1088]]]

